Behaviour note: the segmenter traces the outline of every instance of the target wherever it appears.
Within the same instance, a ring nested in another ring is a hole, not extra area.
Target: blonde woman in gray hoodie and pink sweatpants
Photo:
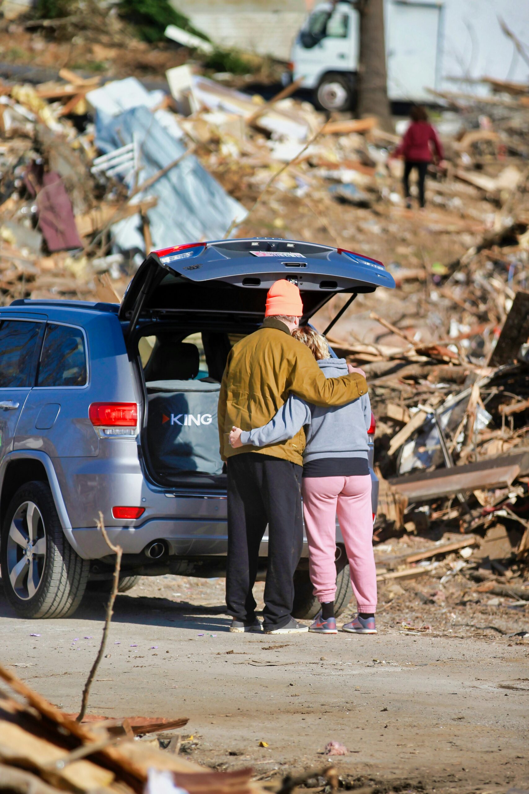
[[[312,350],[325,377],[347,374],[345,359],[331,358],[327,341],[310,326],[293,336]],[[351,570],[358,615],[342,627],[353,634],[376,634],[377,576],[373,554],[371,477],[367,430],[371,423],[368,395],[337,408],[320,408],[290,395],[267,425],[243,432],[234,427],[233,447],[263,447],[292,438],[305,426],[303,513],[309,543],[309,573],[321,611],[309,631],[336,634],[336,532],[338,516]]]

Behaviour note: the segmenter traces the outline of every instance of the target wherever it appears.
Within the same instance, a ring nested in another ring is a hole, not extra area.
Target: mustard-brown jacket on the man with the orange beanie
[[[232,427],[253,430],[266,425],[290,392],[312,405],[339,406],[365,395],[367,384],[357,372],[326,378],[309,348],[290,336],[288,326],[274,317],[266,318],[259,330],[233,345],[228,354],[218,407],[223,461],[249,451],[229,445]],[[302,465],[303,449],[305,432],[301,429],[287,441],[254,447],[251,452]]]

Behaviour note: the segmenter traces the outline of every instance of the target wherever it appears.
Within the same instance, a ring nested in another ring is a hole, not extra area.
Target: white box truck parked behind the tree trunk
[[[385,0],[388,95],[425,102],[439,84],[442,0]],[[317,3],[294,40],[284,83],[303,77],[323,110],[351,110],[356,103],[359,13],[347,0]]]

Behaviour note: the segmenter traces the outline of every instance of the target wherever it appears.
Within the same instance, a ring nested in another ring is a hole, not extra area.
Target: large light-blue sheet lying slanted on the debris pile
[[[133,135],[140,150],[138,185],[186,152],[186,144],[175,140],[144,106],[110,120],[105,117],[103,121],[98,116],[95,143],[105,154],[132,143]],[[128,187],[135,187],[132,177]],[[154,249],[221,239],[234,220],[240,223],[247,214],[242,204],[224,191],[193,154],[157,179],[147,191],[136,195],[132,203],[152,195],[158,197],[157,206],[148,210]],[[140,264],[145,250],[140,216],[113,225],[112,234],[114,250],[136,253]]]

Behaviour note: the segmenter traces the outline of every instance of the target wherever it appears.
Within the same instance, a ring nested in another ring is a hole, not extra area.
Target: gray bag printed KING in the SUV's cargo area
[[[147,384],[149,453],[156,471],[220,474],[220,384],[154,380]]]

